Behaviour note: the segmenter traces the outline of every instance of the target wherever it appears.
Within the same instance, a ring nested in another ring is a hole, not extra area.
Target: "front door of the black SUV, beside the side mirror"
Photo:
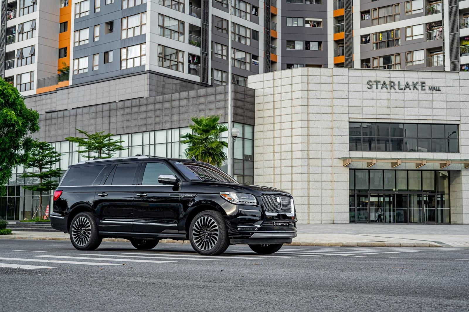
[[[173,175],[181,181],[164,161],[145,161],[140,169],[134,193],[134,231],[147,233],[177,233],[183,212],[180,185],[158,182],[159,175]]]

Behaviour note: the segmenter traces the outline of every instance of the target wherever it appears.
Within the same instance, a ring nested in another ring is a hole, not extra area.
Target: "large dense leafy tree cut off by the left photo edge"
[[[38,112],[26,108],[18,89],[0,78],[0,195],[12,169],[28,159],[30,134],[39,130],[38,120]]]

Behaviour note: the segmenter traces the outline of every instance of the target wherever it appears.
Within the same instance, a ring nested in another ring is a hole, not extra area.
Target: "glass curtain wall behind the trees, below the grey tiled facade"
[[[225,124],[226,125],[226,124]],[[234,141],[234,178],[240,183],[254,183],[254,126],[234,123],[234,127],[240,130],[240,134]],[[184,151],[187,148],[180,141],[182,134],[191,130],[185,128],[175,128],[157,130],[149,132],[139,132],[133,134],[114,135],[112,139],[123,141],[121,145],[127,149],[117,152],[113,157],[127,157],[141,155],[154,155],[170,158],[187,158]],[[220,140],[228,140],[227,133],[221,135]],[[78,145],[68,141],[53,142],[51,145],[61,154],[61,161],[55,164],[55,168],[61,168],[65,173],[71,164],[87,160],[83,153],[78,153]],[[225,150],[227,152],[227,150]],[[54,168],[54,169],[55,169]],[[223,171],[227,171],[227,164],[221,166]],[[23,169],[17,166],[12,171],[12,177],[8,181],[7,193],[0,197],[0,219],[23,220],[30,219],[39,205],[39,192],[31,192],[24,189],[23,185],[32,185],[38,181],[32,178],[21,178],[23,172],[30,172],[32,169]],[[43,212],[47,205],[52,211],[53,201],[51,192],[43,193]]]

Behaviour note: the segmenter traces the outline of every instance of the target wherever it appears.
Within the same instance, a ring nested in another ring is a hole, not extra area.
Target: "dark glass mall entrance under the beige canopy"
[[[350,223],[450,223],[450,171],[350,170]]]

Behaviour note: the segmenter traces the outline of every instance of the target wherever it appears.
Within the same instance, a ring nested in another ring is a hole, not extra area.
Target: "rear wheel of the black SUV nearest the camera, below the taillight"
[[[90,212],[80,212],[70,225],[70,241],[78,250],[95,250],[103,238],[99,236],[98,226]]]

